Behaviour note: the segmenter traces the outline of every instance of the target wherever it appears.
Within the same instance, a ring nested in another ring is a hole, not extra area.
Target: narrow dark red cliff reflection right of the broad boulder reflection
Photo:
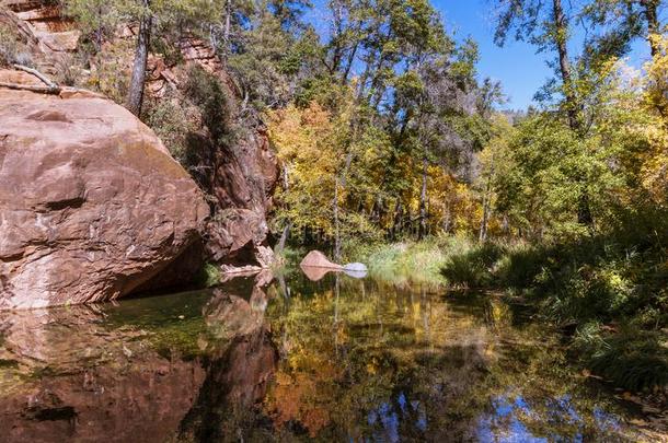
[[[255,287],[250,303],[218,292],[205,308],[207,324],[231,338],[214,355],[193,408],[181,423],[178,440],[234,440],[246,412],[261,401],[278,364],[278,351],[264,322],[266,295]],[[252,412],[251,412],[252,413]]]

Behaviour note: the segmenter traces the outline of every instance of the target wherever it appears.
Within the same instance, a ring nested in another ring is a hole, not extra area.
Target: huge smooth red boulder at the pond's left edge
[[[198,241],[200,190],[125,108],[0,89],[0,308],[117,299]]]

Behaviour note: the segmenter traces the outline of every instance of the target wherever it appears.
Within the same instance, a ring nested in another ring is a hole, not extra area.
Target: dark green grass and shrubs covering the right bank
[[[472,245],[442,273],[454,287],[520,294],[545,320],[576,330],[568,340],[578,359],[617,385],[667,388],[665,219],[567,242]]]

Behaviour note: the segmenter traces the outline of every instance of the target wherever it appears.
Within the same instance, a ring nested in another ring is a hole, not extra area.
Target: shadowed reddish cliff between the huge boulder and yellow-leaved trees
[[[203,42],[186,39],[181,49],[185,66],[168,67],[150,60],[150,90],[160,97],[169,89],[181,93],[188,67],[197,65],[214,74],[226,89],[232,120],[241,121],[241,92],[222,69],[215,53]],[[160,100],[160,98],[159,98]],[[226,270],[251,265],[266,268],[273,261],[267,247],[267,213],[273,209],[274,189],[278,179],[278,162],[270,148],[266,127],[258,118],[243,118],[244,130],[232,144],[214,142],[205,133],[197,135],[200,164],[195,165],[199,186],[212,199],[214,217],[207,223],[205,247],[208,257]]]

